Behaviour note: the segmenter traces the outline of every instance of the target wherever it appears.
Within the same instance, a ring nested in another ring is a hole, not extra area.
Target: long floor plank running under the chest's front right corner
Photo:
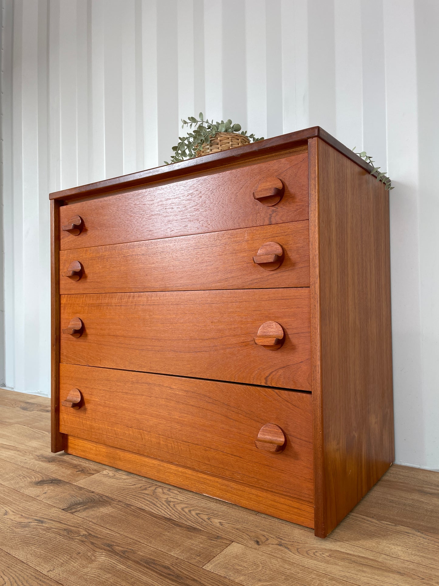
[[[352,543],[321,540],[311,530],[255,514],[241,507],[121,471],[103,471],[78,481],[95,492],[170,517],[198,529],[216,532],[235,543],[308,570],[359,586],[413,586],[420,573],[423,584],[438,585],[437,571],[418,563],[371,551]],[[359,572],[358,568],[361,568]]]

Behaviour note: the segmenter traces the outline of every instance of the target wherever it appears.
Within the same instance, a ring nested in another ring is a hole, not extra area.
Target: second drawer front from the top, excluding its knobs
[[[277,263],[255,264],[253,256],[258,256],[259,248],[273,241],[284,250],[282,264],[275,270],[272,269]],[[308,220],[63,250],[60,291],[71,294],[309,287],[309,251]],[[75,268],[72,263],[77,262],[82,267],[81,274],[71,274]]]

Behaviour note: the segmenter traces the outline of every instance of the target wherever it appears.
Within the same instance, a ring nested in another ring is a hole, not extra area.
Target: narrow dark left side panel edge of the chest
[[[64,434],[60,429],[59,369],[60,369],[60,202],[50,202],[50,304],[52,326],[52,367],[51,367],[51,449],[60,452],[64,449]]]

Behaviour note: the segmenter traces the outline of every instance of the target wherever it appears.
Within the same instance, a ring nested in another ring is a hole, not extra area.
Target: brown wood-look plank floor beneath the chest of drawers
[[[0,390],[0,585],[439,585],[439,473],[392,466],[325,540],[61,452]]]

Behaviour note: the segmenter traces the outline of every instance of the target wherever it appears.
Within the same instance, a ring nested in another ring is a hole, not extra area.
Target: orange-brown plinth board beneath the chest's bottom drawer
[[[114,468],[126,472],[154,478],[157,481],[179,486],[192,492],[200,492],[205,496],[213,496],[251,509],[253,513],[259,511],[292,523],[299,523],[305,527],[314,526],[314,506],[304,500],[194,471],[190,468],[183,468],[123,449],[97,444],[90,440],[82,440],[72,435],[67,435],[66,438],[68,454],[101,462],[107,466],[114,466]]]

